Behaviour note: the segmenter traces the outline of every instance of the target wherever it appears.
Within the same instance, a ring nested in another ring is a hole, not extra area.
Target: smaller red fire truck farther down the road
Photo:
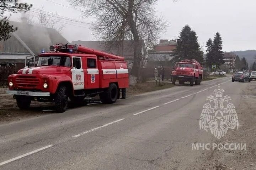
[[[172,72],[172,84],[179,81],[179,84],[190,82],[190,86],[201,84],[203,78],[203,67],[196,60],[181,60],[176,64],[176,69]]]

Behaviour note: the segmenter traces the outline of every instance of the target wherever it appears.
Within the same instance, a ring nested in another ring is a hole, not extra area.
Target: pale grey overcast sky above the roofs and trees
[[[79,10],[70,6],[66,0],[50,0],[63,4],[57,5],[47,0],[20,0],[33,4],[33,8],[44,6],[47,12],[57,12],[63,17],[74,18],[82,22],[91,22],[93,18],[82,18]],[[223,38],[224,51],[240,51],[256,49],[256,0],[159,0],[156,4],[158,15],[163,15],[170,23],[162,39],[174,39],[186,24],[190,25],[198,35],[201,46],[206,45],[209,38],[219,32]],[[32,11],[36,11],[32,9]],[[30,15],[36,13],[28,12]],[[20,13],[12,14],[17,21]],[[36,20],[36,17],[34,17]],[[36,21],[35,21],[36,22]],[[62,20],[67,23],[62,35],[68,40],[98,40],[92,35],[89,24]],[[73,26],[71,26],[72,24]],[[76,25],[76,26],[74,26]],[[85,28],[84,28],[85,27]],[[204,49],[206,49],[204,47]]]

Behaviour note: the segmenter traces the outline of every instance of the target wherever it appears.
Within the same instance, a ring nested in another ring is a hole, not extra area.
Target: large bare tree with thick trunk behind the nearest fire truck
[[[100,38],[110,41],[134,41],[134,61],[131,74],[138,76],[142,60],[142,42],[153,44],[166,22],[155,16],[157,0],[70,0],[75,6],[83,6],[84,17],[94,16],[92,29]],[[177,0],[174,0],[177,1]]]

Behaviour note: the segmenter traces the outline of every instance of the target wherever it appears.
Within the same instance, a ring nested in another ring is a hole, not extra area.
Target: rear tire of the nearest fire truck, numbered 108
[[[112,83],[107,90],[100,94],[100,100],[102,103],[111,104],[115,103],[118,96],[117,85]]]

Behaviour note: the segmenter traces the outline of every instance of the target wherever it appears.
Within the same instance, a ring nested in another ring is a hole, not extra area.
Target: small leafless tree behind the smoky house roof
[[[62,30],[65,28],[65,25],[62,23],[59,27],[56,27],[56,25],[59,25],[61,19],[58,17],[58,13],[47,13],[44,12],[44,7],[42,6],[39,9],[38,12],[38,22],[43,27],[53,28],[56,29],[58,32],[62,32]]]

